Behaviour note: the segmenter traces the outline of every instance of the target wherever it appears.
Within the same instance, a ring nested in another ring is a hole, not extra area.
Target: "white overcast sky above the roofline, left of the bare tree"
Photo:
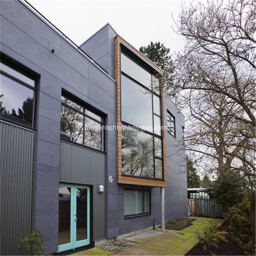
[[[80,45],[109,22],[135,48],[161,42],[171,53],[182,49],[183,39],[172,29],[182,3],[176,1],[32,1],[39,12]],[[173,15],[173,18],[172,18]]]

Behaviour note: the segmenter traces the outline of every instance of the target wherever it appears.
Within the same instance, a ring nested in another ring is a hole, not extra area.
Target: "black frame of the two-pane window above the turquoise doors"
[[[78,142],[74,142],[74,141],[71,141],[71,140],[68,140],[68,139],[65,139],[65,138],[60,138],[60,139],[63,140],[63,141],[72,143],[72,144],[76,144],[76,145],[88,148],[90,150],[95,150],[95,151],[100,152],[100,153],[106,153],[105,152],[105,131],[104,131],[104,129],[101,129],[101,132],[102,132],[101,133],[101,150],[98,149],[98,148],[93,148],[91,146],[84,145],[84,134],[85,134],[85,132],[84,132],[84,130],[85,130],[84,117],[90,118],[91,120],[101,124],[101,126],[103,127],[103,126],[105,126],[105,115],[102,112],[100,112],[98,110],[95,110],[93,107],[89,106],[87,103],[85,103],[84,101],[82,101],[82,100],[78,99],[77,97],[71,95],[70,93],[68,93],[65,90],[62,91],[61,96],[65,97],[66,99],[68,99],[68,100],[70,100],[74,103],[77,103],[78,105],[80,105],[83,108],[83,111],[79,111],[76,108],[73,108],[72,106],[69,106],[68,104],[63,103],[62,100],[61,100],[61,105],[64,105],[65,107],[70,108],[71,110],[76,111],[77,113],[83,115],[83,144],[78,143]],[[85,114],[86,110],[89,110],[93,114],[99,116],[101,118],[101,121],[93,118],[92,116],[90,116],[88,114]],[[60,131],[61,131],[61,129],[60,129]]]

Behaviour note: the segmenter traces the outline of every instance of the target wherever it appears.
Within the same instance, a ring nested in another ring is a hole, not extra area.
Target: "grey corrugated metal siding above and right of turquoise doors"
[[[97,193],[97,184],[105,186],[105,155],[61,141],[60,182],[93,185],[93,240],[105,238],[105,193]]]

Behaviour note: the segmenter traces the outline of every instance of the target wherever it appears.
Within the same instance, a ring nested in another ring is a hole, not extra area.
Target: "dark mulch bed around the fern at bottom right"
[[[220,230],[228,232],[225,237],[229,242],[219,242],[218,248],[211,245],[209,246],[208,251],[204,251],[203,245],[199,243],[186,255],[246,255],[238,244],[232,242],[232,234],[229,233],[228,224],[226,222],[223,223]]]

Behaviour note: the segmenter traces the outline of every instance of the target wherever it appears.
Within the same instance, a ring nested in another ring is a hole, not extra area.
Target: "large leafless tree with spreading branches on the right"
[[[186,39],[174,85],[189,106],[187,150],[208,170],[255,179],[255,2],[191,5],[176,25]]]

